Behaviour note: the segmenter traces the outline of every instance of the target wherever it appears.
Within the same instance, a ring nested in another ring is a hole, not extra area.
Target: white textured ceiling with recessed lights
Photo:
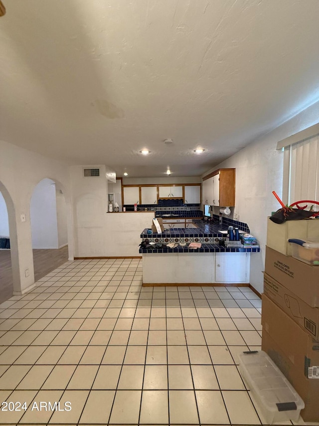
[[[69,164],[199,176],[319,100],[318,0],[2,2],[0,139]]]

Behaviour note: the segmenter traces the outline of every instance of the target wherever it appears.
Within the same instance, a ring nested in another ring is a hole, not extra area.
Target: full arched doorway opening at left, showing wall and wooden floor
[[[58,182],[44,178],[34,187],[30,221],[37,281],[68,260],[67,208]]]

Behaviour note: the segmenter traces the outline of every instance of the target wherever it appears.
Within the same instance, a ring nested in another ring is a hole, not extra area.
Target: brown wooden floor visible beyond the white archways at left
[[[61,249],[34,249],[34,280],[53,271],[68,260],[68,246]],[[12,296],[13,283],[10,250],[0,250],[0,303]]]

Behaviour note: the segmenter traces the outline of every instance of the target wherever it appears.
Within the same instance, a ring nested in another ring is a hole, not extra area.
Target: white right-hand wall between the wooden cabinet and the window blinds
[[[319,102],[203,174],[218,168],[236,168],[235,208],[230,217],[234,212],[239,214],[239,220],[248,223],[259,241],[261,253],[251,255],[250,283],[260,293],[263,292],[267,216],[280,208],[272,191],[282,196],[283,152],[277,151],[277,142],[317,123],[318,116]]]

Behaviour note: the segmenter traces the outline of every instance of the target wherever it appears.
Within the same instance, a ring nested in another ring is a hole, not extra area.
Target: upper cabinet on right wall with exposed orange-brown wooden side
[[[203,178],[203,204],[235,205],[235,169],[218,169]]]

